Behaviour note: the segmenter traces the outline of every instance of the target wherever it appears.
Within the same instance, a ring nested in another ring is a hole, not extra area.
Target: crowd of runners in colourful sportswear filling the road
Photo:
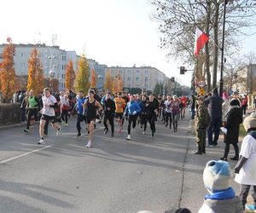
[[[76,129],[77,137],[81,134],[81,123],[86,124],[86,130],[89,135],[86,147],[91,147],[96,123],[103,123],[104,133],[108,134],[111,130],[111,136],[114,136],[115,123],[118,125],[120,134],[123,125],[127,122],[127,140],[131,140],[131,130],[140,126],[143,134],[146,134],[148,125],[151,136],[156,132],[155,124],[163,122],[166,128],[177,131],[179,119],[185,116],[186,108],[189,105],[189,98],[186,96],[177,97],[177,95],[131,95],[124,91],[112,94],[107,91],[105,94],[97,95],[96,89],[89,89],[88,93],[79,91],[73,92],[52,92],[49,88],[44,89],[44,93],[39,97],[35,96],[33,91],[29,91],[22,100],[21,106],[26,109],[26,129],[28,133],[31,121],[40,120],[38,144],[44,144],[44,137],[48,135],[48,125],[56,131],[56,135],[61,134],[61,124],[68,125],[68,118],[77,115]]]

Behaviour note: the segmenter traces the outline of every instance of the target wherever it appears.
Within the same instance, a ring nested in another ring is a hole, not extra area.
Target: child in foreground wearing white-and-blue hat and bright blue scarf
[[[203,174],[203,181],[210,194],[198,213],[242,213],[241,201],[230,187],[230,164],[223,160],[210,160]]]

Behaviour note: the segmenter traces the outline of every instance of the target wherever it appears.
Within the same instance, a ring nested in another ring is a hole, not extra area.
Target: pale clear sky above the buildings
[[[53,34],[61,49],[85,53],[107,66],[154,66],[178,83],[190,85],[191,72],[179,74],[180,61],[160,49],[158,23],[148,0],[9,0],[1,2],[0,43],[46,43]],[[253,50],[255,36],[243,40]]]

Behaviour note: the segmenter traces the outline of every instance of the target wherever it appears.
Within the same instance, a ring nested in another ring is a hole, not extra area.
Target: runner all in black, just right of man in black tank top
[[[108,120],[111,126],[111,136],[113,137],[113,131],[114,131],[113,117],[115,112],[115,104],[114,104],[114,101],[112,100],[111,92],[108,92],[108,94],[106,95],[106,99],[103,103],[103,109],[105,114],[104,121],[103,121],[103,124],[105,126],[104,134],[108,133],[108,124],[107,124],[107,120]]]

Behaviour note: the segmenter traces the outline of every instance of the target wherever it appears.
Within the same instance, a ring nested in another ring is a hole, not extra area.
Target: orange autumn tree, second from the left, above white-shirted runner
[[[40,54],[38,49],[32,49],[30,58],[27,61],[28,64],[28,76],[26,90],[34,91],[35,95],[38,95],[39,92],[42,92],[44,89],[44,72],[42,63],[40,60]]]

